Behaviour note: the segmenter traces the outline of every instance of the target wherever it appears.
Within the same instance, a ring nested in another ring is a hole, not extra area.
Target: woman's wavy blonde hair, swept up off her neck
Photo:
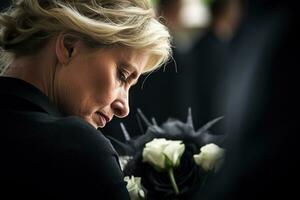
[[[151,56],[145,72],[171,55],[170,34],[149,0],[15,0],[0,15],[2,66],[38,52],[61,32],[77,34],[89,46],[146,50]]]

